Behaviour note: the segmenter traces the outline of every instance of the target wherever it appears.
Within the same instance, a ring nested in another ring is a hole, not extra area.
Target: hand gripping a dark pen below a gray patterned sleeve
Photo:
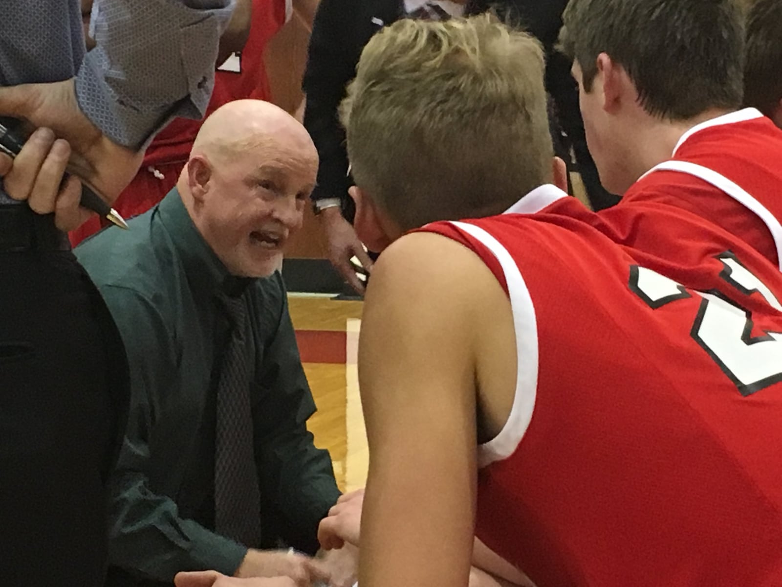
[[[75,229],[91,214],[78,206],[78,178],[111,203],[141,166],[143,153],[117,145],[84,116],[73,79],[0,88],[0,116],[38,128],[15,160],[0,155],[5,191],[38,214],[54,212],[59,229]],[[66,168],[73,175],[63,183]]]

